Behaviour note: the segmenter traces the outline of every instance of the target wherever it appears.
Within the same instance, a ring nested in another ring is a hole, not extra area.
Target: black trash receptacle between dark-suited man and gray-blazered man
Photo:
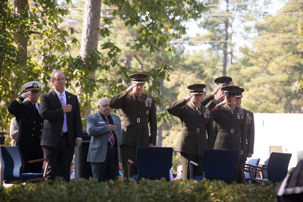
[[[75,179],[93,177],[91,162],[87,162],[87,154],[91,137],[87,131],[82,131],[82,144],[75,148]]]

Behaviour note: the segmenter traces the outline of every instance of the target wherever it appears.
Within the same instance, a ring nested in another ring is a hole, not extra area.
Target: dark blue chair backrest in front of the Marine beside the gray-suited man
[[[156,180],[165,177],[169,181],[172,153],[172,147],[137,147],[138,179],[143,177]]]

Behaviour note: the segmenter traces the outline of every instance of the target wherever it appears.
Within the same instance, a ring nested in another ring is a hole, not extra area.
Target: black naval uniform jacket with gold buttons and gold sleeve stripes
[[[43,154],[40,146],[43,119],[38,109],[30,101],[20,96],[8,105],[8,112],[14,114],[18,122],[16,146],[27,151]]]

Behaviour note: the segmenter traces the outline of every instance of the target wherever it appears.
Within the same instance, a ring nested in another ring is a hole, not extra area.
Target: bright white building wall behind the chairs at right
[[[254,114],[255,147],[252,158],[264,163],[271,149],[291,153],[288,169],[303,159],[303,114]],[[249,159],[248,159],[249,160]]]

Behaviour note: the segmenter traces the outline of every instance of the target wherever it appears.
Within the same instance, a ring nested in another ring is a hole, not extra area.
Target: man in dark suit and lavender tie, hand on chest
[[[40,96],[40,112],[44,119],[41,145],[49,159],[48,179],[63,177],[70,180],[70,166],[75,146],[82,143],[82,124],[78,98],[65,91],[65,74],[56,70],[51,74],[54,89]]]

